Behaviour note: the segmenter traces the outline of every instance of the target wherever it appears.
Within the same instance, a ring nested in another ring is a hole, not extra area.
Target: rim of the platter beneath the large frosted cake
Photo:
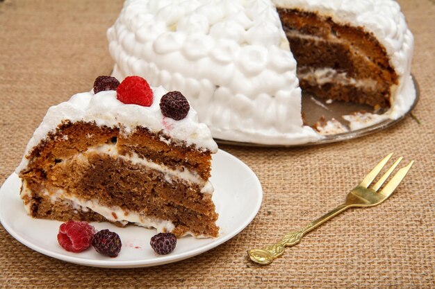
[[[266,143],[249,143],[243,141],[228,141],[225,139],[217,139],[213,138],[217,143],[222,145],[231,145],[231,146],[251,146],[258,148],[297,148],[304,146],[319,146],[326,143],[336,143],[338,141],[350,141],[351,139],[357,139],[359,137],[364,137],[368,134],[374,134],[375,132],[379,132],[386,128],[390,128],[393,125],[396,125],[400,121],[402,121],[405,116],[411,114],[414,107],[416,107],[418,100],[420,100],[420,85],[418,84],[416,77],[411,74],[413,85],[416,89],[416,98],[414,98],[413,103],[401,116],[397,119],[386,119],[384,121],[380,121],[379,123],[375,123],[374,125],[370,125],[366,128],[361,128],[359,130],[351,130],[349,132],[341,132],[339,134],[330,134],[324,136],[322,139],[317,141],[310,141],[308,143],[297,143],[297,144],[266,144]]]

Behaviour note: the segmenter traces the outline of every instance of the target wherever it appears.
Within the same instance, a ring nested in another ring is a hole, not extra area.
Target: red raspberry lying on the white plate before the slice
[[[59,227],[58,242],[63,249],[69,252],[82,252],[92,244],[97,229],[87,222],[70,220]]]

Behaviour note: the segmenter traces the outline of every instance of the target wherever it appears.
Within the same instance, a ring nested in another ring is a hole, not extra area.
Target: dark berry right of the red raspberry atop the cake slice
[[[188,115],[190,105],[186,97],[184,97],[180,91],[169,91],[162,96],[160,109],[164,116],[179,121]]]

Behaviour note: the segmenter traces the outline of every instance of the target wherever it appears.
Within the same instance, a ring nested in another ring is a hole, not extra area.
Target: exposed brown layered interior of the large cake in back
[[[303,91],[320,98],[388,108],[397,75],[384,46],[361,27],[277,8]]]

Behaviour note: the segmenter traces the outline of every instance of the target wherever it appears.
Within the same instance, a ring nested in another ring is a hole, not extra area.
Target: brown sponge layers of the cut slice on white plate
[[[74,207],[68,200],[53,202],[55,192],[63,189],[67,195],[97,200],[104,207],[170,220],[177,236],[186,231],[217,236],[217,213],[211,195],[200,192],[210,177],[211,152],[183,143],[169,145],[161,137],[169,140],[145,128],[126,137],[117,128],[65,122],[28,156],[28,168],[20,173],[26,189],[31,191],[30,195],[23,194],[24,202],[30,202],[30,213],[35,218],[106,220],[95,212]],[[161,170],[89,150],[104,145],[116,145],[118,154],[125,157],[136,155],[169,168],[189,170],[202,184],[177,177],[168,180]],[[116,213],[112,217],[123,220]]]

